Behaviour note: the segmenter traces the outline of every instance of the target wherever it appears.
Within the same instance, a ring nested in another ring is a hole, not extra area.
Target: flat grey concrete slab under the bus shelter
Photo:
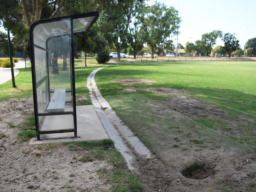
[[[63,118],[63,120],[59,120],[59,124],[63,124],[63,127],[65,127],[67,125],[68,118],[65,118],[65,115],[63,115]],[[77,138],[74,137],[74,132],[45,134],[40,135],[41,140],[37,140],[36,137],[32,138],[29,144],[97,141],[109,138],[92,105],[76,106],[76,120]],[[61,125],[59,125],[59,127],[61,127]]]

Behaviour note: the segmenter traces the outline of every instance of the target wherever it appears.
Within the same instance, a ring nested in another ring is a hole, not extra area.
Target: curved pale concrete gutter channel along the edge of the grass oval
[[[128,168],[133,170],[133,164],[135,164],[137,156],[144,159],[150,159],[151,153],[139,138],[137,138],[132,131],[122,123],[122,120],[100,94],[95,83],[95,74],[104,67],[100,67],[91,72],[87,78],[87,87],[90,91],[93,107],[98,114],[103,127],[108,133],[109,138],[114,141],[115,148],[123,155]]]

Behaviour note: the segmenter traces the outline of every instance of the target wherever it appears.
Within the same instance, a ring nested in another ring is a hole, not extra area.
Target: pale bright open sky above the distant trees
[[[245,41],[256,37],[256,0],[157,0],[174,6],[181,17],[178,42],[195,43],[201,35],[213,30],[236,33],[241,48]],[[149,0],[152,5],[154,1]],[[247,32],[246,32],[247,31]],[[173,39],[177,44],[176,38]],[[221,39],[216,45],[224,45]],[[216,46],[215,45],[215,46]]]

